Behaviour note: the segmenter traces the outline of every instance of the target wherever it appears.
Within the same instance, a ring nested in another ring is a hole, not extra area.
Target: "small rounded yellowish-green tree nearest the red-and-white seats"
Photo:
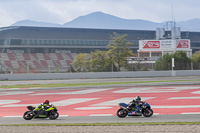
[[[80,53],[75,56],[75,59],[72,63],[77,72],[87,72],[90,71],[89,59],[87,54]]]

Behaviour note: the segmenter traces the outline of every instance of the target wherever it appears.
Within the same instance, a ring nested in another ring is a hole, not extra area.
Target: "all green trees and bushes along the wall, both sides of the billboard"
[[[107,45],[107,51],[96,50],[90,54],[80,53],[75,56],[71,72],[111,72],[130,70],[128,58],[133,56],[131,46],[133,43],[127,42],[127,34],[113,33],[110,36],[111,41]],[[160,57],[154,70],[172,70],[172,58],[174,58],[175,67],[173,70],[191,70],[200,69],[200,51],[196,51],[192,57],[188,57],[185,51],[176,51],[175,53],[166,53]],[[140,67],[137,63],[136,66]],[[131,68],[131,70],[135,70]],[[140,70],[148,70],[143,68]]]

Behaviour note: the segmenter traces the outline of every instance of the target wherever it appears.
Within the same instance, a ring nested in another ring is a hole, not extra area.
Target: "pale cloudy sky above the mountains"
[[[64,24],[101,11],[153,22],[200,18],[200,0],[0,0],[0,27],[33,20]]]

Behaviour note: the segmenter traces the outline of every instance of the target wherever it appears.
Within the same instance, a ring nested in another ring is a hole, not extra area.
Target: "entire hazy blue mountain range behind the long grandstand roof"
[[[12,24],[11,26],[155,30],[156,28],[170,29],[169,22],[166,21],[156,23],[142,19],[123,19],[103,12],[93,12],[85,16],[80,16],[62,25],[56,23],[22,20]],[[176,26],[181,27],[181,31],[200,31],[200,18],[179,21],[176,22]]]

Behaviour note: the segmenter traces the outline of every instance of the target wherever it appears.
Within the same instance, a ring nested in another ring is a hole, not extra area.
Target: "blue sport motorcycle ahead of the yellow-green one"
[[[120,109],[117,110],[117,116],[119,118],[124,118],[128,116],[144,116],[144,117],[151,117],[153,115],[153,110],[148,102],[142,102],[139,106],[135,106],[134,108],[128,108],[128,104],[126,103],[119,103]],[[136,111],[138,111],[136,112]]]

